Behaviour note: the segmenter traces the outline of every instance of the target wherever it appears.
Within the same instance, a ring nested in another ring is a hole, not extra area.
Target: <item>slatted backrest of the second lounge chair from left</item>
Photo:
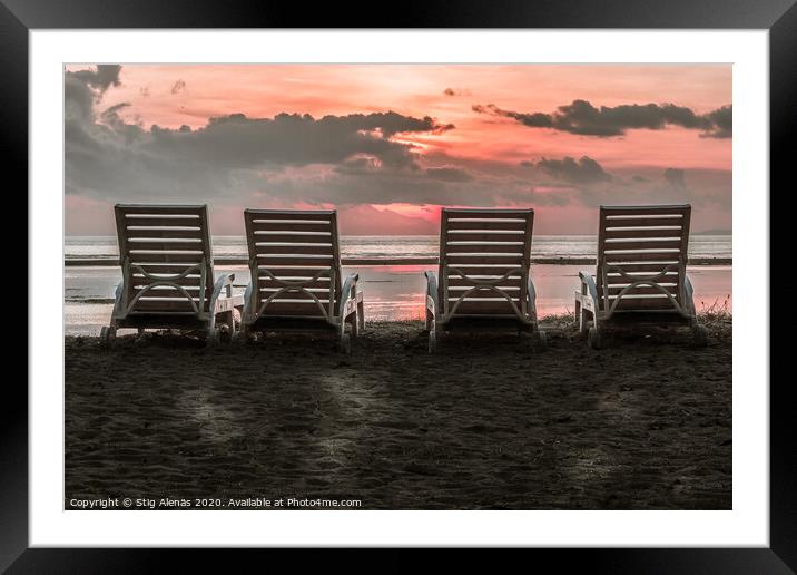
[[[341,293],[337,213],[246,209],[244,220],[255,312],[307,318],[325,318],[331,310],[336,313]]]

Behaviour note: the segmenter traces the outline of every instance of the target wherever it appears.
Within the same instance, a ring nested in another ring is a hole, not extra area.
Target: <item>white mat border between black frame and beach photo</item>
[[[768,51],[766,30],[31,30],[30,545],[768,546]],[[63,64],[269,61],[732,62],[732,511],[63,511]]]

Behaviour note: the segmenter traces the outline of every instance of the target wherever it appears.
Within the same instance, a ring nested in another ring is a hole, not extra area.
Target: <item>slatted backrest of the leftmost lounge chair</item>
[[[114,212],[127,311],[207,312],[214,286],[207,206],[117,204]]]

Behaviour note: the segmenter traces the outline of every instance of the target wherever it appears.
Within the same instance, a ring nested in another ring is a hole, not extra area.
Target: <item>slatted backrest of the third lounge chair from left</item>
[[[533,209],[443,208],[442,312],[446,316],[528,313],[533,225]],[[488,284],[494,289],[485,289]]]

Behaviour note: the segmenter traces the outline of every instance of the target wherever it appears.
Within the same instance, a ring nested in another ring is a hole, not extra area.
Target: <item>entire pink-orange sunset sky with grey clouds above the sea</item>
[[[593,233],[600,204],[689,202],[731,225],[727,65],[67,67],[69,234],[117,202],[340,211],[342,233],[434,234],[440,207],[532,206]]]

